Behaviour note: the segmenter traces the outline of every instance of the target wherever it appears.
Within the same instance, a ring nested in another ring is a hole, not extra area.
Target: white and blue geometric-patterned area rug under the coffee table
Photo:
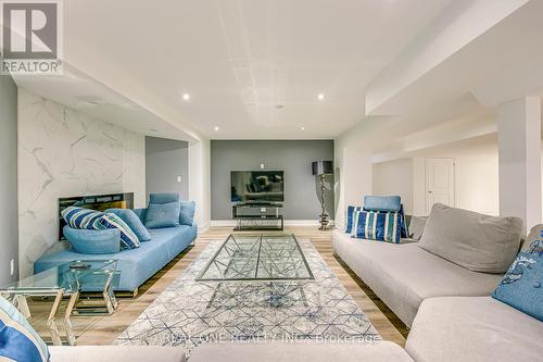
[[[207,341],[381,339],[310,240],[299,240],[314,280],[195,282],[220,247],[214,241],[117,338],[115,345]]]

